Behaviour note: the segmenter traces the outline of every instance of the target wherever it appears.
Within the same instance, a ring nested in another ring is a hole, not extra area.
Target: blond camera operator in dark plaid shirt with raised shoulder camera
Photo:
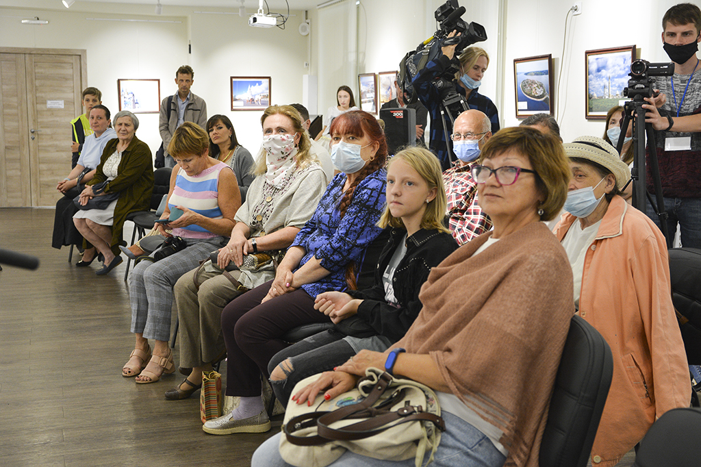
[[[460,35],[461,34],[456,33],[456,31],[453,31],[448,34],[448,37]],[[440,78],[440,76],[443,76],[447,69],[453,65],[455,48],[456,45],[442,47],[442,55],[440,55],[437,60],[428,62],[426,67],[421,69],[412,80],[414,90],[419,100],[423,102],[431,116],[429,148],[437,154],[443,170],[449,169],[451,167],[451,160],[454,160],[445,139],[446,133],[448,135],[453,133],[453,128],[451,121],[446,118],[445,125],[447,126],[447,132],[444,132],[443,123],[441,122],[441,97],[439,91],[433,86],[432,82]],[[491,102],[489,97],[477,92],[482,76],[484,76],[484,72],[489,66],[489,55],[487,55],[482,48],[469,47],[461,53],[458,60],[460,62],[460,71],[456,73],[453,83],[456,85],[455,88],[458,94],[465,97],[470,109],[482,111],[482,113],[489,117],[489,121],[491,121],[491,132],[496,133],[499,130],[499,116],[496,105],[494,105],[494,102]]]

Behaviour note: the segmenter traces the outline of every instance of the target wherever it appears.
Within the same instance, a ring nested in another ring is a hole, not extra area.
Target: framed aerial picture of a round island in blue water
[[[514,59],[516,118],[554,115],[552,102],[552,54]]]

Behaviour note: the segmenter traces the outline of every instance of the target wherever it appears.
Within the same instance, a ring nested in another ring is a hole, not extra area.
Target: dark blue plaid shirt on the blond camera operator
[[[451,154],[446,143],[443,123],[441,122],[442,116],[440,114],[440,93],[435,86],[433,86],[433,81],[444,74],[445,70],[450,66],[450,63],[451,60],[449,60],[446,55],[440,55],[437,60],[428,62],[426,67],[423,67],[423,69],[414,76],[414,80],[411,81],[414,85],[414,90],[416,90],[416,95],[418,95],[418,99],[426,106],[428,114],[431,116],[430,142],[428,148],[438,156],[443,170],[450,170],[451,162],[456,160],[456,156]],[[465,97],[465,88],[458,85],[456,81],[454,81],[454,84],[458,93]],[[499,114],[496,105],[494,105],[494,102],[491,102],[489,97],[479,94],[477,90],[479,90],[479,88],[473,89],[472,93],[470,93],[470,97],[467,98],[468,107],[470,107],[470,109],[482,111],[488,116],[491,121],[491,133],[496,133],[500,128]],[[457,118],[457,115],[454,117]],[[453,125],[447,116],[445,124],[448,129],[448,135],[450,136],[451,133],[453,133]]]

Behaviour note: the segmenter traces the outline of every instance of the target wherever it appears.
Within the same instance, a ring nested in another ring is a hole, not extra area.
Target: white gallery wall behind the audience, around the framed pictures
[[[13,7],[13,3],[0,0],[0,46],[85,48],[88,83],[103,90],[104,102],[111,109],[117,108],[117,79],[161,79],[161,95],[165,97],[175,91],[173,72],[187,63],[196,73],[193,92],[205,98],[210,114],[229,115],[241,142],[255,151],[259,147],[260,112],[229,110],[229,76],[271,76],[273,103],[285,103],[302,100],[302,76],[312,74],[318,77],[317,111],[323,113],[335,104],[339,85],[349,84],[356,90],[358,73],[395,69],[404,53],[433,34],[433,12],[443,2],[346,0],[306,13],[293,11],[285,31],[247,27],[246,18],[233,14],[194,13],[236,13],[236,8],[164,6],[164,14],[156,16],[150,5],[80,1],[65,10],[56,8],[57,0],[26,0],[22,8]],[[294,8],[294,0],[290,3]],[[480,92],[494,100],[503,126],[519,123],[513,60],[552,54],[557,92],[553,104],[556,108],[559,105],[557,119],[567,141],[604,133],[601,121],[585,119],[585,50],[636,45],[639,57],[668,61],[661,46],[660,22],[667,8],[678,1],[583,0],[583,13],[568,18],[564,55],[569,1],[460,3],[467,9],[463,18],[484,25],[489,36],[479,44],[491,56]],[[248,10],[253,12],[253,8]],[[297,31],[305,15],[311,22],[309,36]],[[50,24],[20,25],[21,18],[34,16],[48,19]],[[86,20],[97,17],[139,21]],[[188,53],[190,43],[192,53]],[[155,151],[160,143],[158,118],[145,114],[141,120],[139,137]]]

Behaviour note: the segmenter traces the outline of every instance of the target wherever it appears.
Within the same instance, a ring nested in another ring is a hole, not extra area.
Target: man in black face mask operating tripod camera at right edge
[[[679,224],[683,246],[701,248],[701,65],[696,57],[701,10],[693,4],[672,6],[662,18],[662,29],[662,43],[674,62],[674,76],[658,79],[660,95],[646,98],[649,104],[642,107],[647,110],[646,123],[652,123],[655,130],[662,194],[669,215],[667,247],[672,248]],[[648,153],[646,182],[648,191],[654,193],[649,157]],[[647,214],[660,226],[650,203]]]

